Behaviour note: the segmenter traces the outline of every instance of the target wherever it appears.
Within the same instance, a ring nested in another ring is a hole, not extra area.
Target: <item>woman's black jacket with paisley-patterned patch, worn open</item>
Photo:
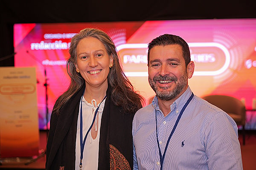
[[[79,102],[84,88],[85,86],[72,96],[59,115],[51,115],[46,170],[75,169]],[[100,127],[99,170],[133,168],[131,129],[134,114],[122,113],[122,108],[113,104],[109,87]]]

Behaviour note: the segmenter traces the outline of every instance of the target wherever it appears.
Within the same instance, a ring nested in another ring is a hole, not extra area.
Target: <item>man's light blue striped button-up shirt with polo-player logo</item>
[[[187,88],[164,117],[157,97],[134,116],[134,170],[160,170],[157,132],[161,153],[173,126],[192,94]],[[242,170],[237,125],[221,109],[194,96],[177,125],[166,150],[163,170]]]

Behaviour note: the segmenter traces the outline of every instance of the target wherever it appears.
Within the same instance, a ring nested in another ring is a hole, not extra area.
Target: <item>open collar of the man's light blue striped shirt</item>
[[[192,94],[192,91],[191,91],[191,89],[188,86],[186,91],[178,99],[176,99],[172,103],[172,105],[170,105],[170,108],[171,108],[171,112],[170,113],[172,113],[173,111],[175,111],[176,114],[180,113],[181,109],[183,108],[183,106],[185,105],[186,101],[189,99],[191,94]],[[156,110],[161,111],[160,108],[159,108],[159,105],[158,105],[157,96],[154,96],[154,99],[152,101],[152,105],[153,105],[153,107]]]

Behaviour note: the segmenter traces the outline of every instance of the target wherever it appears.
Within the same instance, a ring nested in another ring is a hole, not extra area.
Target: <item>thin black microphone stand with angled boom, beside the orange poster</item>
[[[47,132],[47,137],[46,137],[46,142],[48,139],[48,134],[49,134],[49,128],[48,128],[48,83],[47,83],[47,73],[46,73],[46,68],[45,66],[41,63],[40,60],[38,60],[34,55],[30,54],[29,51],[26,51],[27,54],[29,54],[33,59],[35,59],[38,63],[40,63],[43,67],[44,67],[44,87],[45,87],[45,107],[46,107],[46,132]],[[44,155],[46,155],[46,149],[44,150],[44,152],[42,152],[40,155],[38,155],[36,158],[28,161],[25,163],[25,165],[31,164],[32,162],[37,161],[38,159],[44,157]]]

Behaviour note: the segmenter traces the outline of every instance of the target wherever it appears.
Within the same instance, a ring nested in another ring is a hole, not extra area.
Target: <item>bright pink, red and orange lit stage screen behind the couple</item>
[[[111,36],[125,74],[147,102],[154,96],[148,84],[147,44],[168,33],[189,44],[195,62],[189,85],[197,96],[229,95],[252,108],[256,98],[256,19],[15,24],[15,66],[36,67],[41,129],[46,128],[46,104],[50,114],[69,85],[65,64],[70,38],[86,27],[100,28]],[[253,115],[249,117],[250,122],[255,121]],[[256,125],[247,124],[247,129],[251,128]]]

